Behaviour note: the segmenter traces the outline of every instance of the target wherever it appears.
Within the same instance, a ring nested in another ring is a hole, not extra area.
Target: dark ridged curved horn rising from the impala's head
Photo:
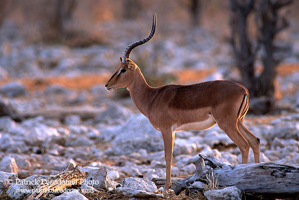
[[[143,40],[139,40],[139,41],[133,42],[133,43],[129,44],[126,47],[126,49],[124,51],[124,59],[123,59],[123,63],[124,64],[127,64],[127,59],[126,58],[130,58],[131,51],[135,47],[148,42],[153,37],[153,35],[155,33],[155,30],[156,30],[156,18],[157,18],[156,15],[157,15],[156,13],[152,15],[152,26],[151,26],[151,30],[150,30],[149,36],[147,36]]]

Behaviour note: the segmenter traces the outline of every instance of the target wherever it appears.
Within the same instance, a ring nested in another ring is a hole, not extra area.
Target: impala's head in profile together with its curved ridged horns
[[[134,78],[134,73],[136,72],[137,65],[130,60],[130,54],[132,50],[146,42],[148,42],[154,35],[156,30],[156,14],[152,16],[152,26],[149,36],[144,38],[143,40],[139,40],[137,42],[131,43],[127,46],[124,51],[124,57],[121,58],[121,64],[119,65],[117,71],[111,76],[111,78],[105,84],[105,88],[108,91],[112,91],[114,89],[127,87]]]

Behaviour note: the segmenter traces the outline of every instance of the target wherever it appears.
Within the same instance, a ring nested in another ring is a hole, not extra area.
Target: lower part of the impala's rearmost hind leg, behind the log
[[[253,150],[254,162],[260,163],[260,139],[244,125],[244,117],[238,120],[238,128]]]

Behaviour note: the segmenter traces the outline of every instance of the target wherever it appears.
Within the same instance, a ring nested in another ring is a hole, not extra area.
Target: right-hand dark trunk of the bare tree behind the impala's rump
[[[260,0],[256,11],[256,25],[258,28],[258,42],[262,49],[262,62],[264,71],[258,79],[257,96],[274,96],[275,67],[281,60],[274,57],[276,46],[275,36],[278,32],[288,27],[285,16],[280,16],[278,11],[289,5],[293,0]]]

